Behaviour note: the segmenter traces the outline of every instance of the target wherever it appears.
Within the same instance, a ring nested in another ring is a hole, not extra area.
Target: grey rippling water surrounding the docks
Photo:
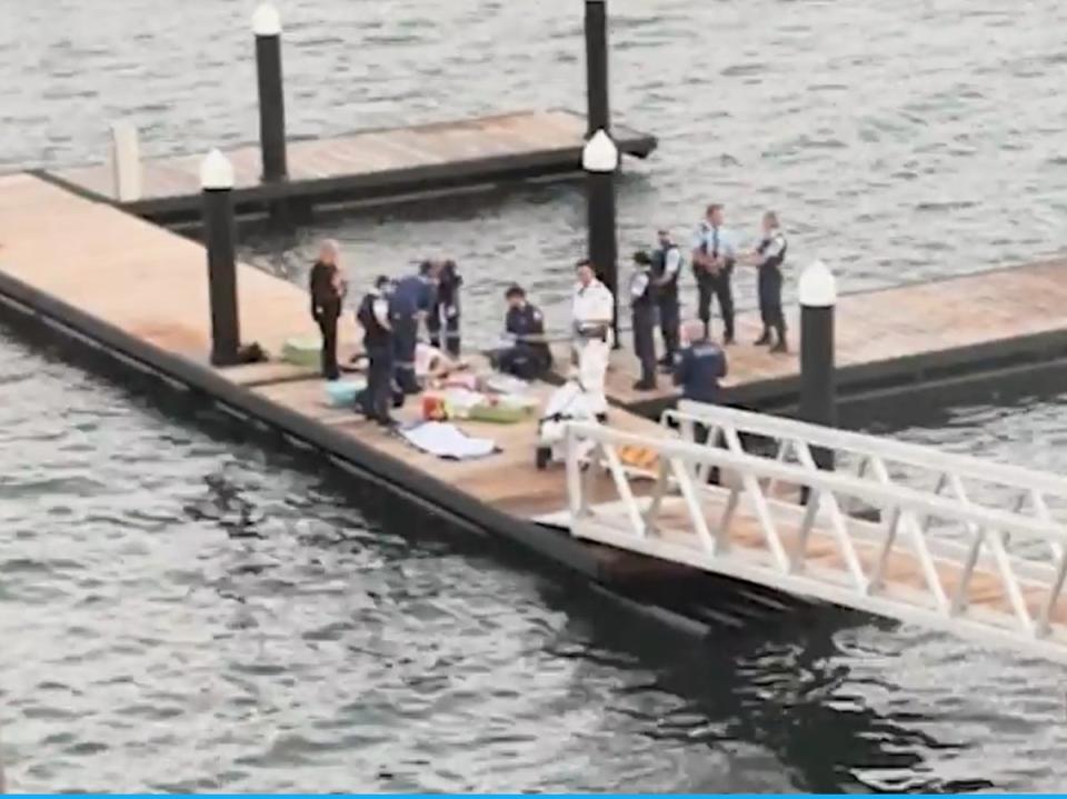
[[[660,220],[687,227],[710,198],[745,228],[779,208],[794,263],[818,254],[845,289],[1060,247],[1061,4],[615,6],[616,108],[662,140],[624,183],[625,247]],[[250,10],[2,2],[0,164],[92,160],[119,116],[152,152],[251,138]],[[577,3],[283,13],[297,133],[582,102]],[[296,273],[335,234],[355,281],[447,252],[469,276],[477,337],[516,276],[558,313],[581,226],[577,190],[542,187],[249,247]],[[695,650],[452,531],[412,536],[345,480],[6,332],[0,398],[12,788],[1053,790],[1067,777],[1063,671],[1040,661],[846,616]],[[957,408],[901,435],[1061,470],[1065,409]]]

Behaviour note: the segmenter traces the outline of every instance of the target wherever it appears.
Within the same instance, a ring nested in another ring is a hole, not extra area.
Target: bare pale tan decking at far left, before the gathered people
[[[195,241],[16,174],[0,179],[0,261],[20,280],[127,332],[207,358],[207,261]],[[239,266],[238,286],[243,340],[278,353],[288,338],[318,337],[301,288],[247,264]],[[343,326],[349,351],[356,339]]]

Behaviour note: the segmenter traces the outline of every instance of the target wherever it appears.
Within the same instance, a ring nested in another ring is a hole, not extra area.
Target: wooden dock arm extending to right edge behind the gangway
[[[788,406],[800,379],[799,308],[787,309],[794,351],[771,354],[751,342],[758,311],[737,317],[727,349],[722,401],[747,408]],[[716,330],[721,330],[716,322]],[[1067,357],[1067,259],[1027,263],[897,288],[842,294],[835,319],[840,394],[980,376]],[[627,347],[614,353],[608,396],[644,413],[678,396],[661,377],[658,391],[632,388],[639,366]]]

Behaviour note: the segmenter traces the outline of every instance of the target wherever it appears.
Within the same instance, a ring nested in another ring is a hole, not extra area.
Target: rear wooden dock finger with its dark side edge
[[[645,158],[656,148],[647,133],[621,124],[612,131],[626,154]],[[277,182],[261,181],[257,144],[225,154],[233,164],[233,201],[242,212],[279,199],[359,200],[572,173],[581,169],[585,133],[585,117],[550,110],[295,139],[288,146],[289,178]],[[154,220],[197,217],[202,159],[198,152],[144,160],[141,197],[120,204]],[[46,170],[41,177],[118,202],[109,163]]]

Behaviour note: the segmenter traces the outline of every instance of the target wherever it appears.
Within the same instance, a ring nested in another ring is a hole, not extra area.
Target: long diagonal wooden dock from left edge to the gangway
[[[66,257],[41,258],[42,252],[56,252],[60,242]],[[277,356],[288,339],[318,338],[303,289],[239,264],[238,297],[242,341],[256,341]],[[466,432],[493,439],[501,451],[482,460],[447,461],[413,449],[351,409],[330,407],[318,370],[279,361],[212,367],[203,248],[108,203],[30,174],[0,178],[4,298],[60,323],[77,318],[79,334],[102,339],[126,357],[148,360],[152,368],[195,383],[238,407],[250,422],[273,420],[468,522],[525,535],[530,546],[557,555],[566,550],[565,560],[599,577],[629,568],[627,561],[635,559],[535,526],[535,516],[565,507],[566,489],[559,470],[535,468],[532,421],[462,422]],[[357,334],[355,326],[341,327],[342,357],[357,351]],[[534,390],[544,400],[552,388],[540,384]],[[412,418],[419,406],[418,398],[409,400],[398,418]],[[632,431],[656,428],[624,411],[615,423]]]

